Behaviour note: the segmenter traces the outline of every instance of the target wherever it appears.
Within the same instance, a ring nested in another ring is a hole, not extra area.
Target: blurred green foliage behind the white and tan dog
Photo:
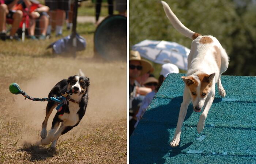
[[[166,0],[181,22],[194,32],[216,37],[230,57],[228,75],[256,75],[256,3],[241,0]],[[129,45],[145,39],[186,47],[191,39],[177,32],[156,0],[129,1]],[[158,71],[158,70],[157,70]],[[159,71],[158,71],[159,72]]]

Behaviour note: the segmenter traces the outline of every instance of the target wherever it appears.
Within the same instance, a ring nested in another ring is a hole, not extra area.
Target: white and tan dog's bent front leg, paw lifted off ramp
[[[215,96],[215,87],[212,87],[212,90],[209,93],[209,95],[205,101],[206,105],[204,107],[204,112],[200,115],[199,121],[197,123],[196,130],[197,130],[198,134],[200,134],[204,129],[204,121],[206,120],[207,114],[211,108],[212,102],[214,100],[214,96]]]

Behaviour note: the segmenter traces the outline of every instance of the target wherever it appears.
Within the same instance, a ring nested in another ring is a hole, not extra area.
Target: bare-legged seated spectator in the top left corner
[[[1,0],[1,4],[0,4],[0,39],[1,40],[5,40],[5,39],[20,40],[19,37],[15,35],[23,17],[23,12],[21,10],[14,9],[18,1],[19,0],[5,0],[5,1]],[[24,1],[26,2],[26,0]],[[6,26],[5,26],[6,19],[13,19],[10,36],[6,35]]]

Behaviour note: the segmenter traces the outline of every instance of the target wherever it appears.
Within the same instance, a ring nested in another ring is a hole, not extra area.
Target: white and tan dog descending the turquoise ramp
[[[201,36],[189,30],[178,20],[166,2],[162,1],[162,5],[174,28],[181,34],[193,39],[191,51],[188,55],[187,77],[181,77],[185,82],[185,89],[177,128],[173,140],[170,142],[171,147],[176,147],[180,142],[181,126],[191,100],[195,112],[201,112],[204,107],[197,123],[197,132],[200,134],[204,129],[204,121],[214,99],[215,83],[218,85],[219,94],[225,97],[226,92],[221,85],[221,74],[227,70],[229,58],[216,38]]]

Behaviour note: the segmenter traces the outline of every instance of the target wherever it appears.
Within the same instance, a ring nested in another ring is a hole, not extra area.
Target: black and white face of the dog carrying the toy
[[[68,91],[74,94],[84,93],[89,85],[90,81],[87,77],[75,75],[68,78]]]

